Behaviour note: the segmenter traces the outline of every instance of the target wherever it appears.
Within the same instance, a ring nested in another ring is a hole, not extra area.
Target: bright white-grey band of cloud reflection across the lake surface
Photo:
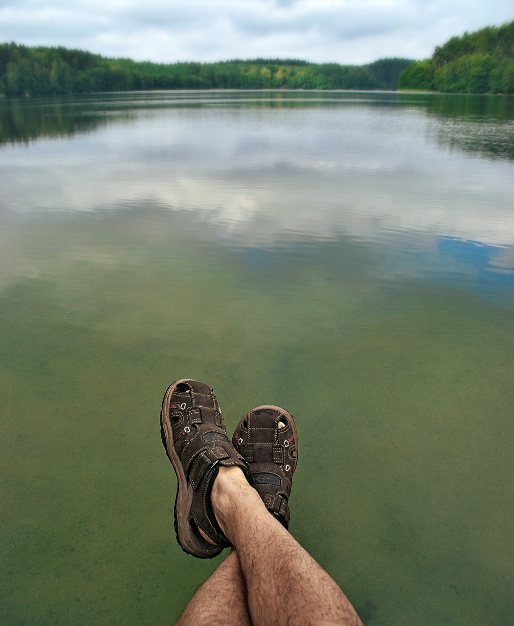
[[[122,101],[130,108],[128,95]],[[513,164],[480,158],[480,145],[472,155],[461,150],[478,122],[445,115],[351,101],[131,110],[68,140],[4,147],[0,210],[164,207],[188,213],[197,236],[205,231],[217,245],[351,237],[394,250],[404,273],[420,271],[416,255],[423,271],[445,273],[441,242],[468,242],[469,250],[488,247],[488,272],[510,274]]]

